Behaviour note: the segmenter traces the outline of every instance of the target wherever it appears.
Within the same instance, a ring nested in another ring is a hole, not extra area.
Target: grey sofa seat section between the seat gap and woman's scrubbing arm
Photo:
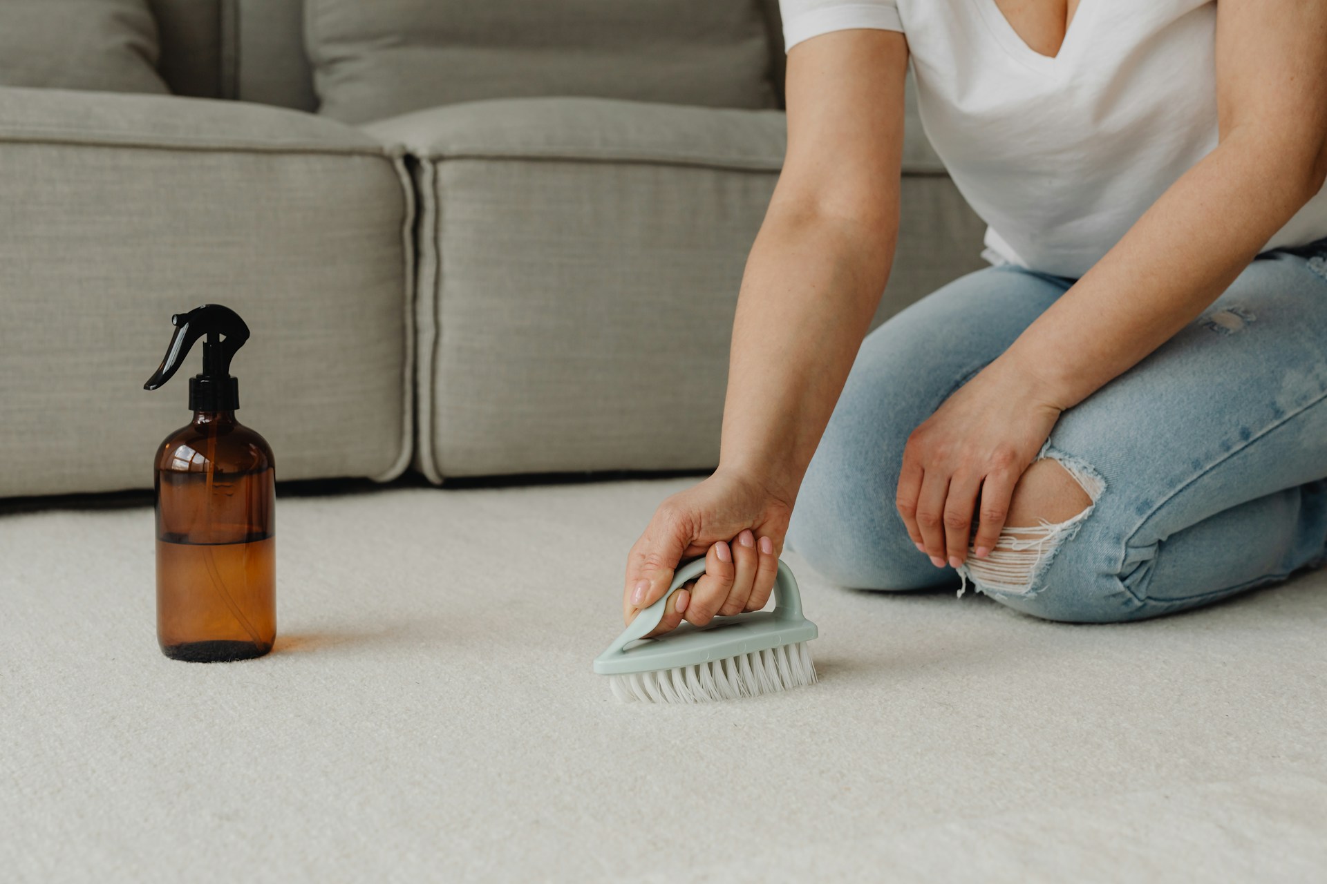
[[[506,99],[369,131],[419,158],[426,476],[717,463],[783,114]]]

